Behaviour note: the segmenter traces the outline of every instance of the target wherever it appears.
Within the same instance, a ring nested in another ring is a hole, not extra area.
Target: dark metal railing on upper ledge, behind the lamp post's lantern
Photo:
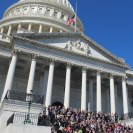
[[[9,90],[6,94],[5,99],[18,100],[18,101],[26,101],[26,92]],[[33,103],[43,104],[44,96],[42,95],[34,95]]]

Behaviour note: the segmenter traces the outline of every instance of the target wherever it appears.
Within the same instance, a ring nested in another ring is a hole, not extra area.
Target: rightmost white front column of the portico
[[[122,95],[123,95],[123,113],[128,113],[128,92],[126,86],[126,77],[122,78]]]

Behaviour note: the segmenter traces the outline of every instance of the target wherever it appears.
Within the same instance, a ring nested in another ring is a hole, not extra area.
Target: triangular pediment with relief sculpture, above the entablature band
[[[127,64],[120,58],[101,47],[99,44],[87,38],[81,33],[56,33],[56,34],[26,34],[21,35],[28,39],[35,40],[44,45],[61,48],[74,54],[84,55],[101,61],[115,63],[124,67]]]

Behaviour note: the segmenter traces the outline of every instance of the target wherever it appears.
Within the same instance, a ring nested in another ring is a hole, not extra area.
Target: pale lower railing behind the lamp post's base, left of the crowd
[[[15,112],[7,121],[7,126],[11,123],[13,124],[25,124],[25,118],[27,113]],[[33,125],[37,125],[38,123],[38,114],[30,114],[30,119]]]

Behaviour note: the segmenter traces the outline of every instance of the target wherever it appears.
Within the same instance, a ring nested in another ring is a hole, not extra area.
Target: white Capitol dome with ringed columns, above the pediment
[[[17,32],[73,32],[75,26],[67,25],[73,15],[68,0],[20,0],[6,10],[0,29],[8,36]],[[83,31],[78,17],[77,31]]]

